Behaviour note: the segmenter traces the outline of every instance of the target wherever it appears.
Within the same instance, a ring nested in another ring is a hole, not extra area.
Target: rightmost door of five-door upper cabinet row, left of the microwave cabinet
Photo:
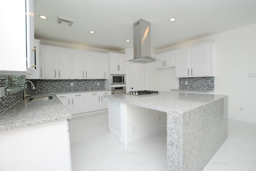
[[[97,79],[106,79],[106,76],[107,76],[107,66],[106,66],[106,60],[107,60],[107,56],[106,54],[97,54],[96,55],[97,58],[96,58],[96,73],[97,73],[97,76],[96,78]]]

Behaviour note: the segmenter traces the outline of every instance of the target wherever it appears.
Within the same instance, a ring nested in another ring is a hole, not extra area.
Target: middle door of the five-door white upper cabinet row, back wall
[[[84,79],[84,52],[72,52],[72,78]]]

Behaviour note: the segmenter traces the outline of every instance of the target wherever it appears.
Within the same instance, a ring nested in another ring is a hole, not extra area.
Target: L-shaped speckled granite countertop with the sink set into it
[[[56,94],[84,93],[104,90],[68,91],[56,93],[32,93],[27,100],[21,99],[15,105],[0,113],[0,131],[8,131],[32,125],[70,119],[71,113],[58,99]],[[52,96],[50,100],[28,101],[31,97]]]

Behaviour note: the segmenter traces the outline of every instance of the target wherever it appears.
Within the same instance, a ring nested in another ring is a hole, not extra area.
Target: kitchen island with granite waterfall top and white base
[[[167,170],[202,170],[227,139],[228,96],[159,92],[104,96],[110,134],[128,148],[166,128]]]

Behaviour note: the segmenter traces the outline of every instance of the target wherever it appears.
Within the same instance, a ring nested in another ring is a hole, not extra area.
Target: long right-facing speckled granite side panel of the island
[[[204,169],[228,137],[228,96],[183,113],[183,169]]]

